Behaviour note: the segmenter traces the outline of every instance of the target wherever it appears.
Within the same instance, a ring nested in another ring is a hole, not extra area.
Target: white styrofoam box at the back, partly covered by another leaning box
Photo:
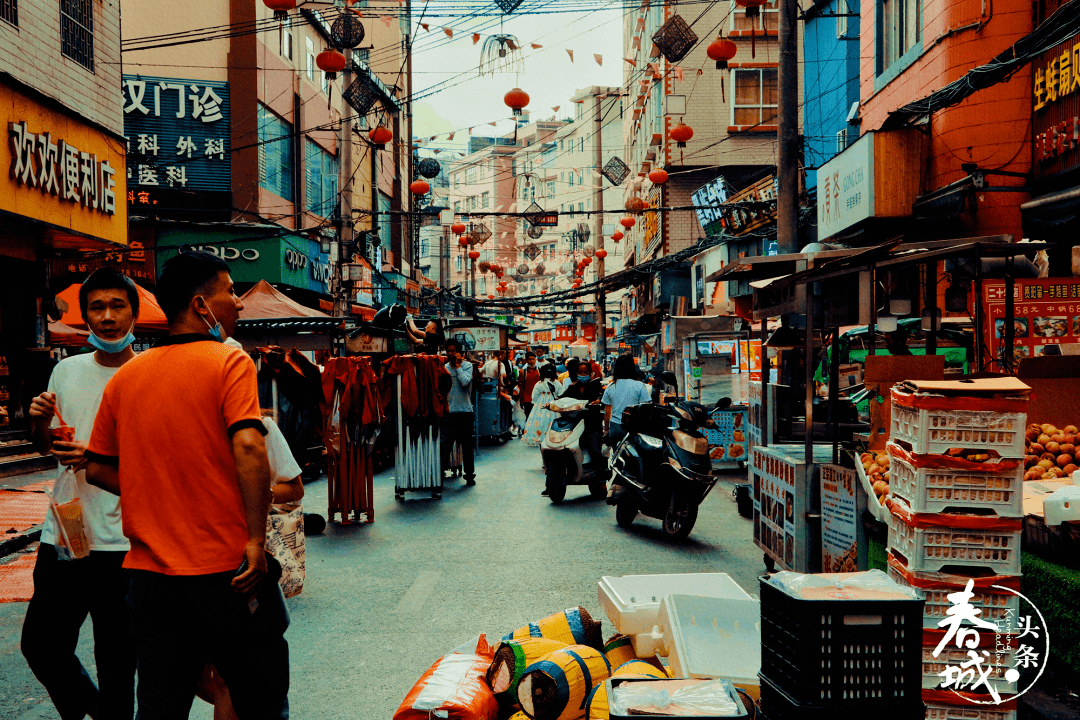
[[[604,613],[618,633],[630,636],[638,657],[651,657],[661,650],[662,636],[657,626],[665,595],[751,599],[726,572],[605,576],[600,578],[597,595]]]

